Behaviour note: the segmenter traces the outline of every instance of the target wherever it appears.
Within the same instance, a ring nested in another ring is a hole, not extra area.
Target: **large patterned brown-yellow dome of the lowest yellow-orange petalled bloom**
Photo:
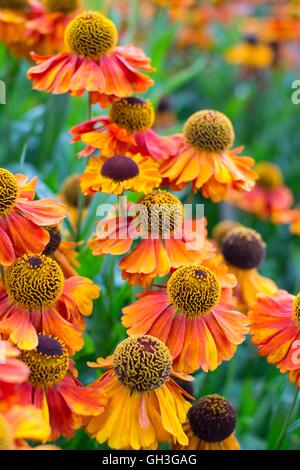
[[[154,336],[134,335],[122,341],[114,353],[114,370],[131,390],[149,392],[168,380],[172,358],[167,346]]]

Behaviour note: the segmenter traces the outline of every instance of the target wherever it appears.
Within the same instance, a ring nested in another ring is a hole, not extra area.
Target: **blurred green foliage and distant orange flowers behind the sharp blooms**
[[[100,10],[118,26],[120,42],[134,43],[152,58],[155,86],[147,94],[157,110],[156,130],[181,132],[186,118],[200,109],[222,111],[233,121],[235,146],[256,162],[270,161],[283,172],[295,206],[300,199],[300,104],[292,102],[292,84],[300,79],[300,2],[201,0],[90,0],[86,9]],[[1,12],[0,12],[1,13]],[[1,31],[0,31],[1,37]],[[87,119],[86,97],[72,98],[36,92],[26,79],[30,59],[2,42],[0,79],[6,84],[6,104],[0,105],[1,166],[39,177],[38,195],[61,192],[64,180],[83,170],[70,144],[69,128]],[[107,110],[94,109],[94,115]],[[94,230],[95,208],[89,206],[82,236]],[[300,290],[300,238],[288,226],[275,225],[227,204],[205,204],[209,234],[224,217],[259,231],[267,244],[260,272],[291,293]],[[87,360],[111,354],[124,337],[121,308],[133,299],[133,289],[121,281],[117,260],[94,258],[79,248],[80,273],[95,279],[102,298],[89,320],[85,348],[77,355],[81,379],[94,371]],[[292,401],[293,385],[260,358],[248,341],[216,372],[196,374],[195,395],[224,394],[238,410],[237,436],[243,449],[270,449],[280,434]],[[300,448],[300,415],[282,448]],[[99,448],[82,431],[69,449]]]

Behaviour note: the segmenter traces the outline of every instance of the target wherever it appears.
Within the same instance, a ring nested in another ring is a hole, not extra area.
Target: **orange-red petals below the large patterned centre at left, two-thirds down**
[[[0,289],[0,332],[20,349],[31,350],[38,344],[38,333],[58,336],[72,354],[84,344],[84,316],[92,313],[93,299],[100,289],[87,278],[65,280],[61,298],[39,311],[14,305],[4,288]]]

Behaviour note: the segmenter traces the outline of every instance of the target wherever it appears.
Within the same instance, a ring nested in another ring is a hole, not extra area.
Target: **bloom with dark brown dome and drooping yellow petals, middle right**
[[[238,280],[235,295],[242,311],[256,300],[257,294],[276,292],[276,284],[257,271],[266,253],[266,245],[258,232],[243,226],[234,228],[224,238],[221,251],[230,272]]]

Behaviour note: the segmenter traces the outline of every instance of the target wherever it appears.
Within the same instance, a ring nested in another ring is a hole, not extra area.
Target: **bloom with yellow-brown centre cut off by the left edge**
[[[0,168],[0,264],[9,266],[24,253],[41,253],[49,242],[45,226],[57,225],[66,207],[53,199],[34,201],[37,178],[28,181]]]

